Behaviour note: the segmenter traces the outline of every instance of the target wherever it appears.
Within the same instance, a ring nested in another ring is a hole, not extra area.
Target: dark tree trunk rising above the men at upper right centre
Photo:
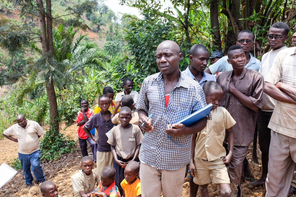
[[[221,35],[218,19],[218,0],[212,0],[210,3],[210,21],[213,31],[213,45],[217,46],[218,50],[222,50]]]

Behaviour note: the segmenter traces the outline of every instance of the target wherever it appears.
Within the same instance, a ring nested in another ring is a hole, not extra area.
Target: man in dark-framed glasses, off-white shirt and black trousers
[[[283,49],[286,49],[285,41],[288,39],[289,26],[284,22],[276,22],[269,28],[267,34],[268,43],[271,51],[264,54],[261,59],[261,66],[259,72],[263,75],[264,79],[267,78],[268,72],[274,62],[276,55]],[[268,153],[270,144],[270,128],[268,123],[274,111],[276,101],[268,96],[266,93],[263,95],[262,108],[258,111],[257,124],[258,124],[258,138],[259,146],[262,152],[262,175],[260,179],[247,183],[252,186],[265,185],[265,180],[268,172]]]

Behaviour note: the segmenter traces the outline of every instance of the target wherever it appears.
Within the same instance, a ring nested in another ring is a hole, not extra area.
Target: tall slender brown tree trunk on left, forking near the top
[[[49,17],[46,17],[45,21],[45,14],[43,12],[44,6],[42,0],[36,1],[38,5],[38,16],[40,18],[40,41],[42,45],[42,54],[44,56],[48,56],[52,58],[53,56],[53,42],[52,42],[52,18],[51,18],[51,0],[46,0],[46,13],[50,14]],[[46,29],[47,23],[47,29]],[[50,54],[48,52],[50,51]],[[45,87],[47,93],[47,99],[49,103],[49,116],[50,116],[50,129],[52,131],[59,131],[59,114],[57,112],[57,97],[54,91],[54,81],[52,77],[49,79],[45,79]]]

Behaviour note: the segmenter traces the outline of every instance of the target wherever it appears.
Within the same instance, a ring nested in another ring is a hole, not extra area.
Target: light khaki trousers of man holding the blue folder
[[[172,171],[157,170],[141,163],[140,179],[142,197],[180,197],[182,195],[186,166]]]

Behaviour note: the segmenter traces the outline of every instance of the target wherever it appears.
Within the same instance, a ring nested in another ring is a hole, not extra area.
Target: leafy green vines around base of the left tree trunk
[[[65,153],[72,153],[75,141],[56,130],[46,130],[40,142],[41,160],[55,160]]]

